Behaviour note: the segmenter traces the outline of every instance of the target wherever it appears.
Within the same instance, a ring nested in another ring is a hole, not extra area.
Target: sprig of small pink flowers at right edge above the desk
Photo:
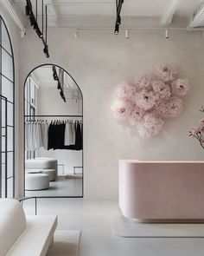
[[[201,105],[200,111],[204,112],[204,105]],[[188,135],[199,141],[201,147],[204,148],[204,119],[201,119],[199,127],[191,128]]]

